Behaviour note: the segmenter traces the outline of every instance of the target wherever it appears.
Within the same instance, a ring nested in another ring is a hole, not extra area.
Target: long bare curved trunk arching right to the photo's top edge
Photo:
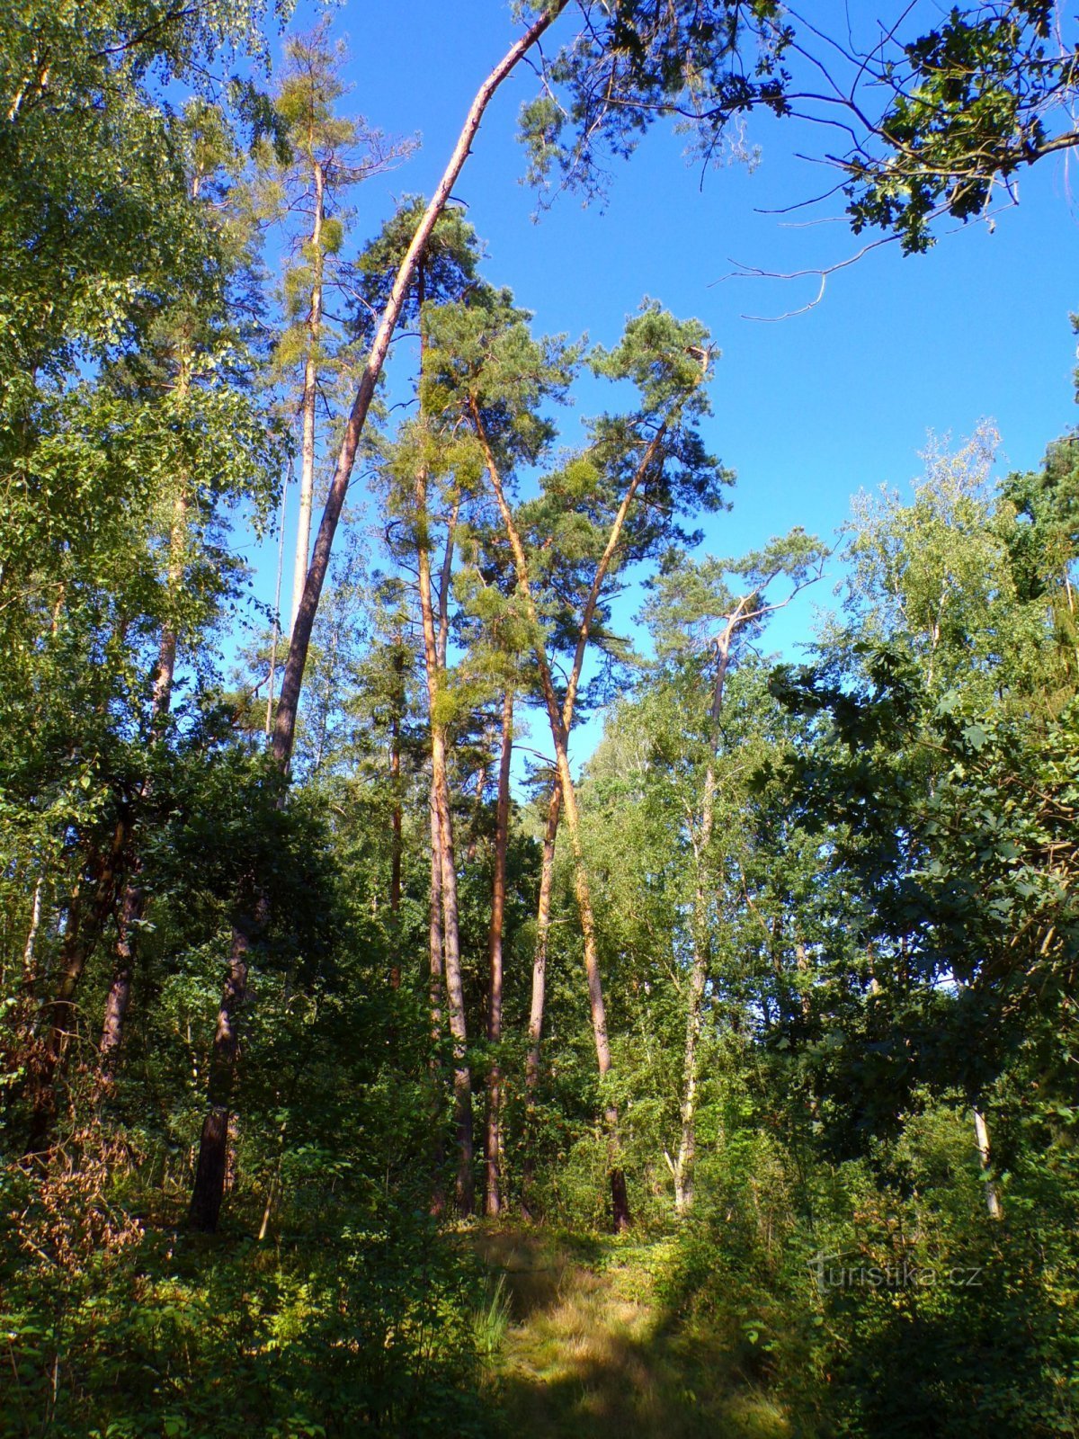
[[[411,243],[397,271],[397,278],[394,279],[381,322],[378,324],[378,330],[375,331],[371,342],[371,351],[367,357],[367,364],[360,378],[352,409],[345,425],[345,433],[341,440],[341,449],[334,468],[334,478],[329,485],[329,495],[327,496],[327,507],[315,538],[311,567],[308,568],[304,593],[292,625],[292,642],[289,645],[285,678],[281,686],[281,701],[278,702],[278,715],[273,727],[273,754],[282,768],[286,768],[289,760],[292,758],[299,694],[304,685],[304,668],[306,665],[308,648],[311,645],[311,630],[315,623],[319,596],[322,594],[322,586],[329,567],[329,553],[334,544],[337,522],[341,518],[341,507],[344,505],[348,481],[352,475],[352,465],[360,446],[360,436],[363,435],[364,425],[367,423],[367,412],[371,407],[378,376],[381,374],[383,364],[386,363],[390,341],[393,340],[394,330],[397,328],[397,321],[409,294],[409,286],[411,285],[416,266],[427,246],[427,240],[430,239],[439,216],[446,207],[446,201],[450,197],[457,176],[469,157],[472,141],[476,138],[479,122],[483,118],[488,104],[491,102],[491,96],[495,94],[502,81],[514,71],[518,62],[528,53],[528,50],[531,50],[537,40],[540,40],[550,26],[558,19],[567,4],[568,0],[552,0],[544,13],[538,16],[525,33],[509,47],[509,50],[506,50],[499,63],[491,71],[488,78],[479,86],[476,96],[469,106],[465,125],[457,137],[457,144],[453,148],[449,164],[446,165],[442,180],[432,196],[423,219],[416,227]]]

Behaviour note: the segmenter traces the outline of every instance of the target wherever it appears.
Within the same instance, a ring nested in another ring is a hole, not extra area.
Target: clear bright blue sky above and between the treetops
[[[319,13],[301,6],[295,26]],[[354,89],[342,108],[422,138],[407,165],[358,191],[354,235],[363,243],[396,196],[430,193],[476,85],[516,32],[499,0],[352,3],[331,13],[334,35],[350,47]],[[970,224],[924,256],[885,246],[833,275],[809,312],[761,322],[745,317],[797,309],[819,282],[724,279],[732,260],[791,272],[834,263],[863,243],[842,222],[807,227],[790,223],[804,213],[762,213],[829,183],[796,158],[820,148],[820,132],[754,119],[747,140],[760,145],[758,164],[732,164],[702,183],[699,167],[686,165],[685,140],[657,127],[616,164],[606,206],[586,210],[561,196],[534,223],[537,197],[519,183],[514,138],[518,106],[534,91],[534,76],[519,71],[495,96],[455,196],[488,242],[488,278],[515,291],[538,330],[587,330],[611,344],[643,295],[709,327],[722,358],[708,439],[738,484],[734,509],[705,517],[704,548],[737,554],[794,524],[832,537],[859,488],[902,489],[918,475],[928,430],[958,440],[991,417],[1011,469],[1034,466],[1076,423],[1069,311],[1079,309],[1079,200],[1066,158],[1021,176],[1019,207],[1000,213],[993,230]],[[256,590],[272,599],[276,544],[253,557]],[[784,612],[773,643],[793,653],[830,591],[819,586]],[[627,600],[623,623],[632,610]],[[578,737],[578,761],[596,738],[594,724]]]

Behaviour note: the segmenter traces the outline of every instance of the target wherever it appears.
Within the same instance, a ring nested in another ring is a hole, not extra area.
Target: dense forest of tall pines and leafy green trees
[[[469,209],[514,76],[916,269],[1075,17],[528,0],[427,189],[360,9],[0,14],[0,1439],[1079,1435],[1079,432],[714,550],[724,334]]]

